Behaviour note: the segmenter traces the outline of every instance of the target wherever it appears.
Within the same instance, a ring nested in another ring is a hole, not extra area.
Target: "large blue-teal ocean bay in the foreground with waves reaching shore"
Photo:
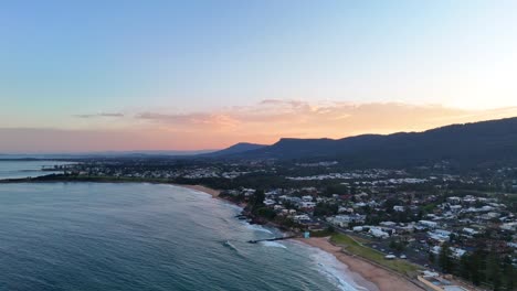
[[[0,185],[0,290],[361,290],[335,257],[169,185]]]

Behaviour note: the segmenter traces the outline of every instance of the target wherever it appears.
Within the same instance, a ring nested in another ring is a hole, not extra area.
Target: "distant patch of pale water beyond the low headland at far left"
[[[55,172],[41,171],[42,166],[68,164],[55,161],[0,161],[0,179],[19,179],[49,175]]]

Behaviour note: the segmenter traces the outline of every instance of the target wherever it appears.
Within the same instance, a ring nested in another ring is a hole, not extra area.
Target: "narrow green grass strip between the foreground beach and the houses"
[[[384,266],[393,271],[397,271],[402,274],[413,277],[414,273],[419,270],[413,263],[408,262],[407,260],[394,259],[387,260],[384,259],[384,254],[374,250],[369,247],[360,245],[358,241],[354,240],[351,237],[344,234],[335,234],[331,236],[330,241],[337,246],[342,247],[346,251],[362,257],[365,259],[377,262],[381,266]]]

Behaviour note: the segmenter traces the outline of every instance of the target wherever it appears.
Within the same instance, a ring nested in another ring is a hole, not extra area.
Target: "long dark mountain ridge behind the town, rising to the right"
[[[517,118],[452,125],[423,132],[363,134],[339,140],[281,139],[221,158],[339,160],[351,166],[408,166],[439,161],[464,165],[517,161]]]

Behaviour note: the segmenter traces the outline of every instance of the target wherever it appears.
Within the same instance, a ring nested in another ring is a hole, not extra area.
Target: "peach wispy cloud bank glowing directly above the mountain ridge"
[[[207,112],[137,115],[137,119],[175,129],[220,134],[255,132],[281,137],[342,138],[360,133],[420,131],[449,123],[469,122],[517,115],[517,108],[464,110],[437,105],[402,103],[306,103],[266,99],[253,106]]]

